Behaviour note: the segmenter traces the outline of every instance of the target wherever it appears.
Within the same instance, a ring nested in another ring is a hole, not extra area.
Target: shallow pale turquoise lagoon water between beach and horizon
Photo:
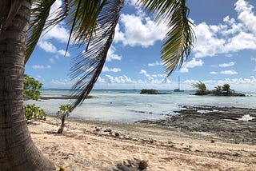
[[[159,90],[165,94],[140,94],[132,89],[94,89],[82,105],[78,106],[70,117],[99,121],[133,122],[165,118],[167,114],[181,109],[182,105],[217,105],[222,107],[256,108],[256,93],[246,93],[246,97],[208,97],[191,95],[194,91],[174,92]],[[58,97],[70,95],[70,89],[42,89],[42,96]],[[54,115],[59,105],[70,103],[66,99],[25,101],[36,104],[46,113]]]

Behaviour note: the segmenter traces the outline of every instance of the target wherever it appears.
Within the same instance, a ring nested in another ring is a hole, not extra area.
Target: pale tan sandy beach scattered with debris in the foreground
[[[146,123],[69,118],[28,124],[31,137],[56,170],[256,170],[256,145]],[[254,137],[255,138],[255,137]]]

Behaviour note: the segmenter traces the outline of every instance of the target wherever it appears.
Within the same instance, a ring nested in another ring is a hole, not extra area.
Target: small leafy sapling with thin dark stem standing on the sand
[[[65,126],[65,118],[69,117],[73,109],[74,108],[72,105],[60,105],[59,110],[56,113],[57,117],[60,117],[62,119],[62,125],[61,128],[58,129],[58,133],[63,133],[63,129]]]

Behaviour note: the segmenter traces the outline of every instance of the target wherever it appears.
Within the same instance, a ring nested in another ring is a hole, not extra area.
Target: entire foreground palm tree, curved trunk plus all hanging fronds
[[[114,38],[124,0],[63,0],[50,19],[56,0],[0,1],[0,165],[1,170],[55,170],[31,140],[23,109],[23,74],[43,30],[65,20],[74,46],[84,46],[71,62],[74,107],[88,96],[102,71]],[[31,6],[32,9],[31,9]],[[169,30],[162,44],[162,63],[168,75],[190,55],[194,32],[187,18],[186,0],[138,0]],[[79,78],[79,79],[78,79]]]

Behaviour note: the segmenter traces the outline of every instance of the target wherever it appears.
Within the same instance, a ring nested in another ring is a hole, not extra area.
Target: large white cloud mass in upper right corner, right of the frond
[[[256,16],[253,6],[245,0],[238,0],[234,5],[238,20],[226,16],[223,23],[218,25],[202,22],[194,28],[197,39],[193,52],[196,58],[256,50]]]

